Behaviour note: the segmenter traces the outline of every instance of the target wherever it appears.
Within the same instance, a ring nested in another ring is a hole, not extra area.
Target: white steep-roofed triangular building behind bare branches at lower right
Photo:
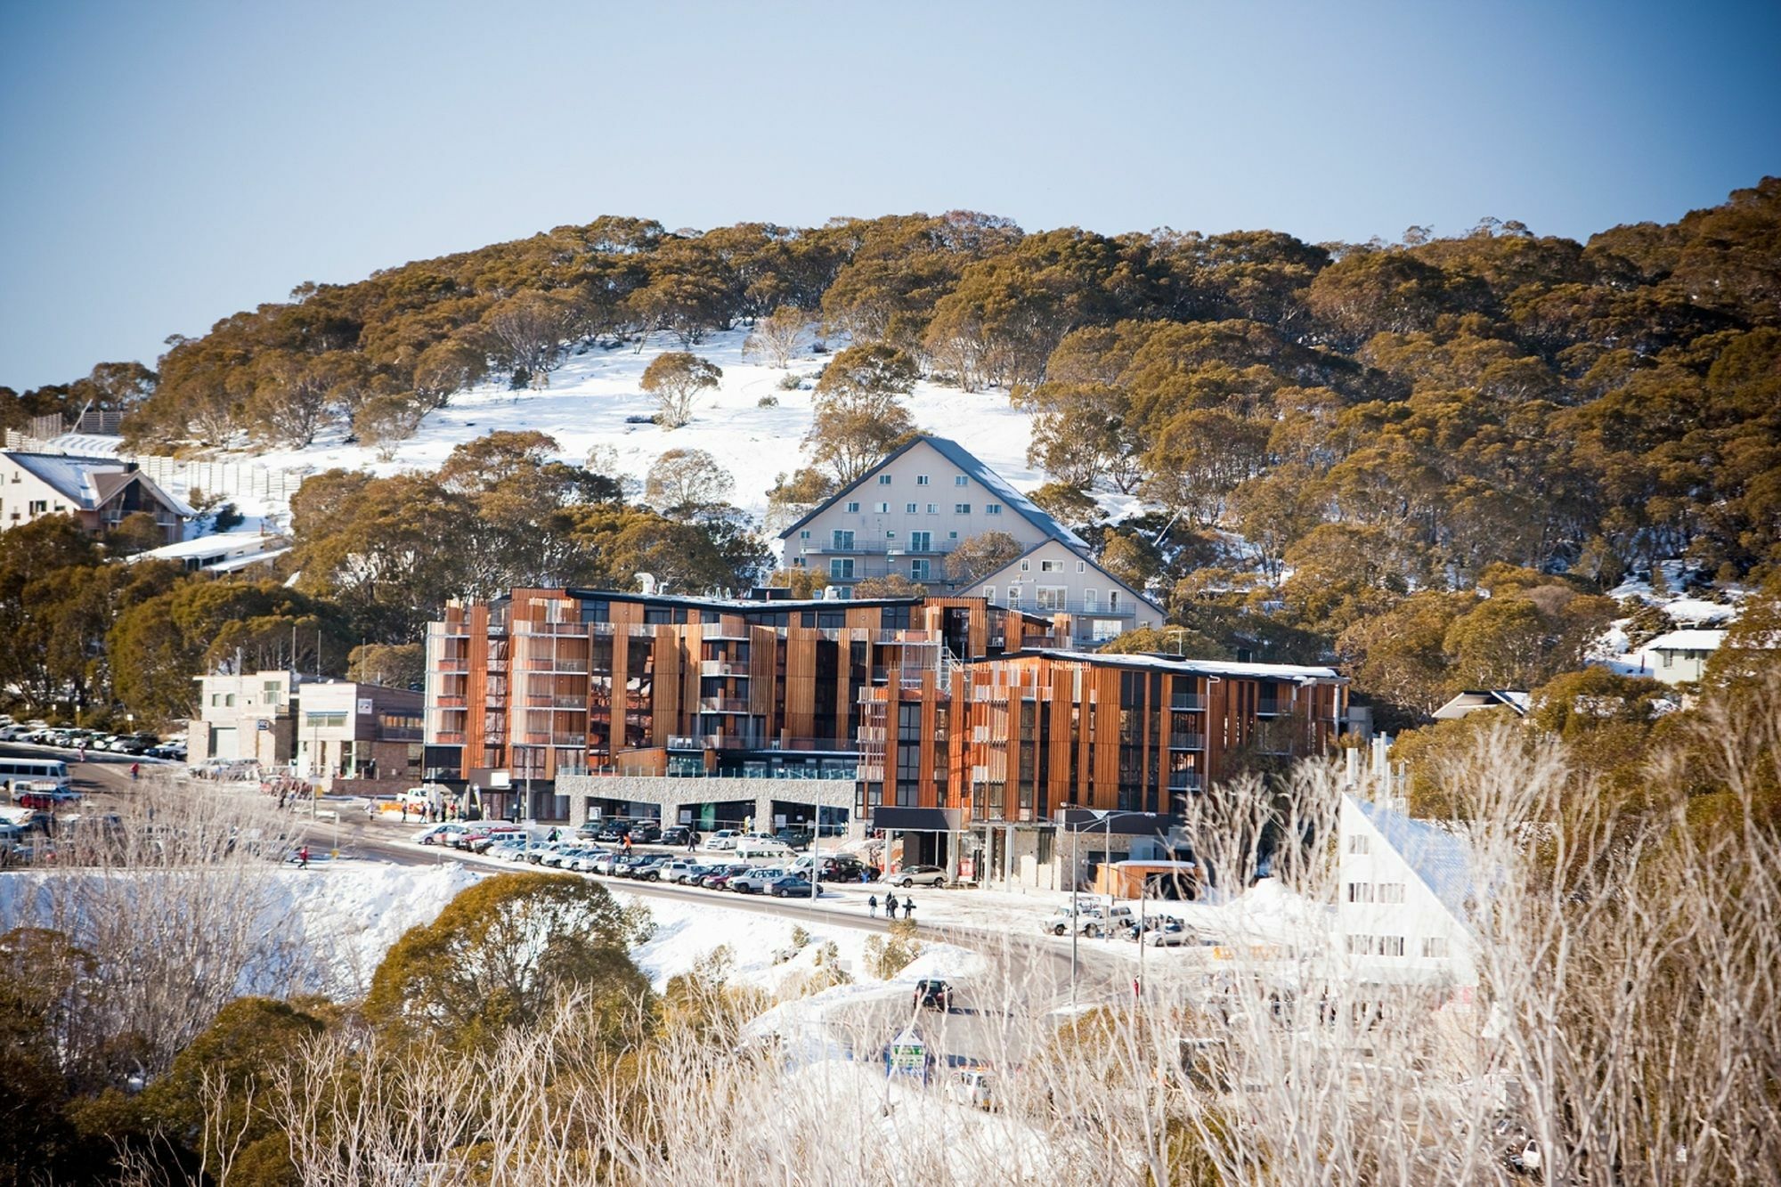
[[[1446,991],[1471,1002],[1473,852],[1427,820],[1354,795],[1338,825],[1336,957],[1361,982]]]

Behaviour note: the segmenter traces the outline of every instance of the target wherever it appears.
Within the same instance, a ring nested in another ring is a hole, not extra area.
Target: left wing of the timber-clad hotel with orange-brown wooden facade
[[[851,756],[860,692],[1053,642],[983,599],[716,601],[513,590],[427,633],[429,768],[443,779],[661,766],[696,754]],[[775,759],[775,763],[782,763]],[[851,777],[851,757],[848,766]]]

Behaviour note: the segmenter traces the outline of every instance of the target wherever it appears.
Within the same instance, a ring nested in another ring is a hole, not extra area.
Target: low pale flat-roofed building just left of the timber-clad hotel
[[[406,688],[292,672],[199,675],[191,765],[255,761],[319,779],[420,781],[424,697]]]

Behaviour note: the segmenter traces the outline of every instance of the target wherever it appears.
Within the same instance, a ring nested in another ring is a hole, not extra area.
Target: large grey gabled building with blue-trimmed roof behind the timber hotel
[[[944,437],[917,437],[780,533],[789,569],[817,569],[850,597],[866,577],[898,574],[947,592],[946,558],[1001,531],[1022,547],[1088,544]],[[992,599],[994,601],[994,599]]]

